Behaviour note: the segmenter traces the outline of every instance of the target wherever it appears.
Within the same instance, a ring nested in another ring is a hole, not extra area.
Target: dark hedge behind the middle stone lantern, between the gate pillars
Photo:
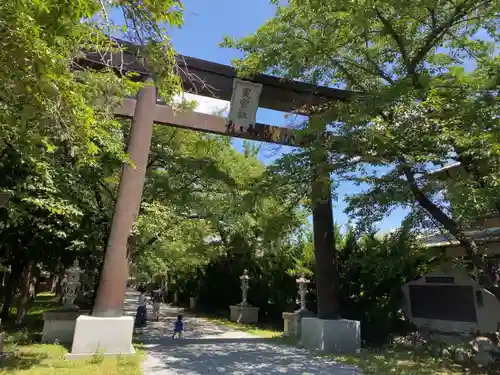
[[[175,274],[169,294],[177,293],[183,304],[189,297],[196,297],[198,308],[204,312],[229,312],[230,305],[241,302],[240,276],[248,269],[248,301],[260,307],[262,322],[281,325],[282,312],[295,306],[295,278],[287,271],[294,267],[300,252],[300,248],[287,247],[262,256],[250,251],[229,253],[202,268]]]

